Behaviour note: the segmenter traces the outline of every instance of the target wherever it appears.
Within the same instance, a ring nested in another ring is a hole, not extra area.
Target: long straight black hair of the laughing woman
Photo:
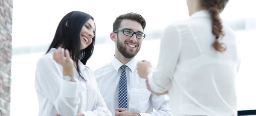
[[[52,48],[58,48],[59,46],[67,49],[70,52],[70,57],[76,63],[76,70],[78,71],[81,78],[83,78],[83,76],[81,75],[79,69],[78,60],[80,60],[85,65],[87,60],[93,54],[95,44],[94,33],[92,43],[87,46],[87,48],[80,49],[80,32],[82,27],[84,26],[84,23],[86,23],[87,20],[89,20],[90,18],[93,20],[93,17],[90,16],[90,14],[80,11],[73,11],[66,14],[58,24],[55,36],[46,52],[47,54]]]

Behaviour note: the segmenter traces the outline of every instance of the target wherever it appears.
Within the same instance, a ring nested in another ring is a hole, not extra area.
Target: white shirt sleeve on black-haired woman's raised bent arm
[[[78,82],[65,81],[58,64],[44,55],[36,64],[35,88],[38,95],[39,113],[51,116],[56,110],[61,116],[76,116],[80,99]],[[54,115],[57,115],[54,114]]]

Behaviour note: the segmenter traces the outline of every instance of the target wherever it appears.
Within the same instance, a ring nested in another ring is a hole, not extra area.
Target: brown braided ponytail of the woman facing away
[[[219,13],[223,11],[228,1],[229,0],[200,0],[201,6],[211,13],[212,34],[216,36],[212,46],[219,52],[224,52],[227,49],[227,46],[219,41],[220,37],[222,38],[225,35],[222,31],[223,26]]]

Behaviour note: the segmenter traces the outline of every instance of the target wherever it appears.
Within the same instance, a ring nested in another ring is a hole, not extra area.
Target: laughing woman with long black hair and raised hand
[[[93,53],[95,23],[73,11],[60,21],[46,54],[36,64],[39,116],[112,116],[86,66]]]

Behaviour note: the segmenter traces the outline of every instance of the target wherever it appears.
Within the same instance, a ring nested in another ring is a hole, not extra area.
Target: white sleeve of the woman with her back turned
[[[160,53],[156,70],[148,75],[148,84],[155,93],[169,89],[180,55],[181,38],[176,26],[169,25],[160,41]]]

